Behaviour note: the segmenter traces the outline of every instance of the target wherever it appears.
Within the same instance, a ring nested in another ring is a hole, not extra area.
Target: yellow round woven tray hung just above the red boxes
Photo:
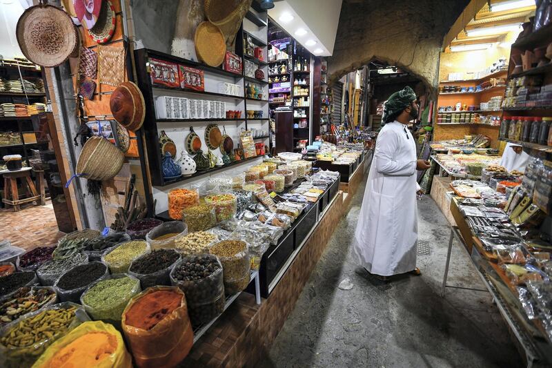
[[[213,23],[204,21],[195,29],[195,52],[205,64],[219,66],[226,55],[226,42],[221,30]]]

